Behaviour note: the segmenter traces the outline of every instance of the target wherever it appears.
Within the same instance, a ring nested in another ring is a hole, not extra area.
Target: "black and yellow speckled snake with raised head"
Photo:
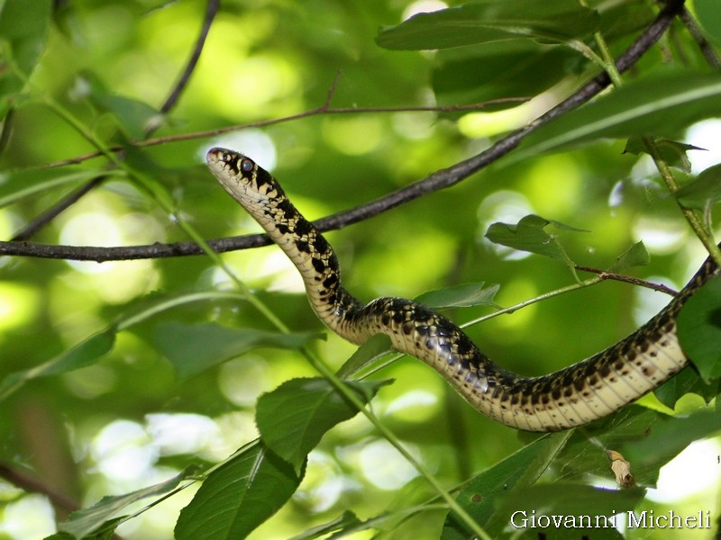
[[[268,171],[226,148],[210,149],[206,161],[296,266],[329,329],[356,345],[385,334],[394,349],[433,367],[471,406],[508,427],[548,432],[583,426],[689,365],[676,320],[688,298],[718,273],[710,258],[662,311],[616,345],[552,374],[525,377],[494,364],[455,323],[423,304],[394,297],[360,302],[342,286],[333,247]]]

